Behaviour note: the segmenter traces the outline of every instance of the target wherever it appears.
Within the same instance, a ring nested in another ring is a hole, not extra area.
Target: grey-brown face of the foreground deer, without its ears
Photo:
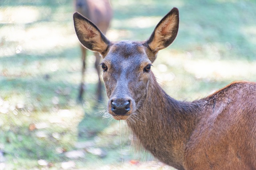
[[[122,41],[112,45],[102,61],[108,112],[126,119],[140,106],[150,80],[152,62],[142,43]]]

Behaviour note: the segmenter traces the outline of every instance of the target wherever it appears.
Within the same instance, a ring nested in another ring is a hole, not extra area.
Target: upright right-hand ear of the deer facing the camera
[[[168,47],[176,38],[178,27],[179,11],[177,8],[172,8],[156,25],[154,32],[146,41],[152,52],[157,53],[159,50]]]

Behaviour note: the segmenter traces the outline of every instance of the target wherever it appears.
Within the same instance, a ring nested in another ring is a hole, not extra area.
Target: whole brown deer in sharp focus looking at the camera
[[[237,81],[192,102],[168,96],[151,66],[178,33],[170,10],[146,41],[109,41],[74,13],[79,41],[103,58],[108,113],[125,120],[138,143],[178,170],[256,169],[256,82]]]

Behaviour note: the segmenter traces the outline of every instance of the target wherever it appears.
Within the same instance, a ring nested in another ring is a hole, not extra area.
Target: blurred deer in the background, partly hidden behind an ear
[[[94,24],[100,28],[100,30],[106,34],[110,26],[110,21],[113,16],[113,10],[109,0],[74,0],[74,6],[76,12],[79,12],[86,18],[90,19]],[[83,100],[84,94],[84,79],[85,79],[85,70],[86,70],[86,52],[87,49],[80,45],[82,51],[82,78],[79,88],[78,100]],[[97,85],[97,100],[102,101],[102,82],[100,79],[101,68],[100,64],[100,54],[95,52],[96,57],[95,68],[98,73],[98,85]]]

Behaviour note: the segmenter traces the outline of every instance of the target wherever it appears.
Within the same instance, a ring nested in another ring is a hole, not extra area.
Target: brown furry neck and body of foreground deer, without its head
[[[179,170],[255,169],[255,83],[235,82],[188,103],[158,88],[152,83],[156,93],[146,97],[136,122],[127,121],[145,149]]]

